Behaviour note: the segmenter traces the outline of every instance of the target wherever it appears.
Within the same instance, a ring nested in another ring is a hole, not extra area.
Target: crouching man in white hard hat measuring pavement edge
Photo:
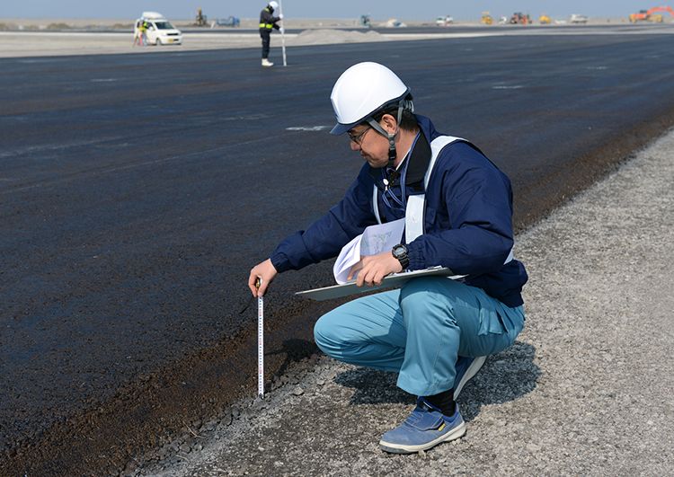
[[[391,273],[436,266],[464,278],[412,278],[360,297],[324,314],[314,337],[330,357],[398,374],[417,405],[379,446],[426,451],[466,433],[457,396],[524,327],[527,272],[512,256],[510,181],[476,146],[415,114],[410,88],[386,66],[351,66],[331,100],[331,133],[346,133],[365,164],[339,204],[251,269],[248,287],[263,296],[278,273],[336,257],[369,225],[404,220],[401,243],[361,257],[349,279],[379,285]]]

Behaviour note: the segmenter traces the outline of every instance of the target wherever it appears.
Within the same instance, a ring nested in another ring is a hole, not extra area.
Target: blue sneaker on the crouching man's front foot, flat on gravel
[[[379,447],[393,454],[412,454],[464,434],[466,423],[458,411],[458,404],[453,416],[445,416],[437,407],[420,397],[412,414],[400,426],[382,436]]]

